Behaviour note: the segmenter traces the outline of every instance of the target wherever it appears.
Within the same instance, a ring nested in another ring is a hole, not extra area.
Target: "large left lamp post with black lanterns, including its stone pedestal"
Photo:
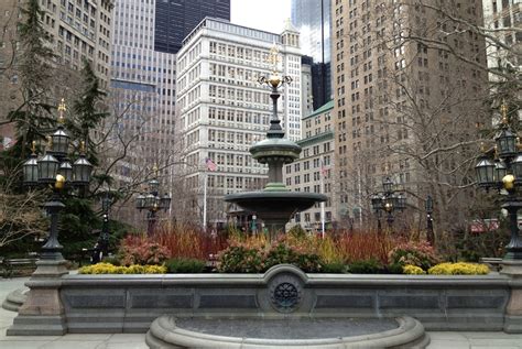
[[[78,159],[73,164],[67,160],[69,137],[64,130],[65,110],[65,102],[62,99],[58,106],[58,127],[48,137],[44,154],[41,157],[36,155],[35,142],[33,142],[32,154],[22,166],[25,186],[53,188],[53,195],[44,204],[51,216],[51,228],[48,239],[42,247],[41,259],[36,262],[36,270],[26,283],[31,291],[23,306],[20,307],[13,325],[8,328],[8,336],[35,334],[63,336],[67,331],[61,295],[61,277],[68,273],[66,261],[62,255],[63,247],[58,241],[58,216],[65,207],[61,196],[66,188],[86,188],[90,181],[93,165],[85,157],[84,142],[80,142]]]

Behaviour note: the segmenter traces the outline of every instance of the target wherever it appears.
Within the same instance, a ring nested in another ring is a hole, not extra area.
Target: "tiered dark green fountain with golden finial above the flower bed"
[[[281,96],[278,88],[292,83],[290,76],[278,74],[278,48],[270,52],[273,64],[269,78],[261,76],[258,81],[268,85],[272,91],[272,119],[267,132],[267,139],[250,148],[252,157],[261,164],[269,165],[269,182],[263,190],[230,194],[225,201],[237,204],[253,211],[261,218],[270,231],[283,230],[291,216],[297,211],[312,207],[315,203],[326,201],[326,196],[315,193],[290,192],[283,183],[283,165],[298,159],[301,146],[284,138],[281,120],[278,117],[278,99]]]

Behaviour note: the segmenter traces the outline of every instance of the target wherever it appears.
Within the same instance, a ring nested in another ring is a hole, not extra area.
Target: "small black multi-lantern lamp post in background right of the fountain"
[[[393,211],[403,210],[406,207],[406,197],[403,193],[393,190],[393,182],[389,176],[382,181],[382,192],[371,196],[371,207],[377,214],[377,232],[382,232],[381,212],[385,212],[388,228],[391,230],[393,221]]]

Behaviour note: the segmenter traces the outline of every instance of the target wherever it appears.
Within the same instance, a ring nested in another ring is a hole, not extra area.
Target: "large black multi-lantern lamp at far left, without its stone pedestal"
[[[85,187],[89,184],[93,165],[85,157],[85,143],[80,144],[78,159],[70,164],[67,159],[69,137],[64,130],[65,101],[58,106],[58,127],[47,138],[47,146],[42,157],[37,157],[35,142],[32,144],[32,154],[23,164],[23,183],[28,187],[52,186],[53,195],[44,204],[51,217],[50,236],[42,247],[42,260],[63,260],[58,242],[58,215],[65,207],[61,200],[61,193],[66,187]]]

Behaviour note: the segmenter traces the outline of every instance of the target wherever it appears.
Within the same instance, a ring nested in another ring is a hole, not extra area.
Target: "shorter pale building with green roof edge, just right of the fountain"
[[[334,228],[340,218],[338,199],[335,192],[335,153],[333,117],[334,101],[329,101],[302,119],[303,139],[297,142],[303,149],[300,159],[285,166],[283,178],[292,192],[324,194],[328,200],[324,204],[325,228]],[[296,212],[289,228],[301,225],[306,230],[319,231],[322,228],[322,204]]]

